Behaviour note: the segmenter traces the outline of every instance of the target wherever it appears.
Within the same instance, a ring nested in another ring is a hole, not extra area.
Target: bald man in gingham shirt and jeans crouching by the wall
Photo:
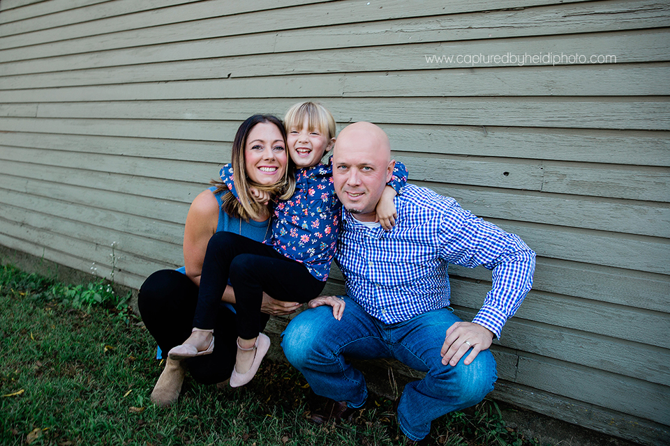
[[[315,393],[334,400],[315,422],[350,417],[366,402],[362,373],[344,357],[393,357],[426,372],[405,386],[398,424],[408,444],[428,444],[435,418],[473,406],[493,390],[493,337],[533,282],[535,253],[521,238],[484,222],[452,198],[408,184],[394,199],[390,231],[375,208],[394,167],[389,139],[371,123],[340,132],[333,179],[343,203],[337,262],[346,278],[341,321],[329,307],[307,309],[282,346]],[[449,308],[447,266],[493,270],[493,287],[472,322]]]

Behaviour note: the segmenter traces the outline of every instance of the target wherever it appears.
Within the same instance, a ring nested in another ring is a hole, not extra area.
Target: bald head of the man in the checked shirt
[[[358,220],[374,221],[375,208],[394,163],[389,160],[388,148],[380,143],[379,134],[366,130],[364,126],[342,130],[333,152],[333,180],[344,208],[356,214]]]

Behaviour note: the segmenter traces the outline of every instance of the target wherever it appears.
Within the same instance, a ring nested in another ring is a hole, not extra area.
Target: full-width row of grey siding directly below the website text
[[[458,68],[419,72],[242,77],[0,91],[1,102],[214,98],[670,95],[670,66]],[[262,83],[263,89],[258,85]]]

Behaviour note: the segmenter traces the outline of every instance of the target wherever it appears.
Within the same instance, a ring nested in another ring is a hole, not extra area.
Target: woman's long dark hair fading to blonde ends
[[[255,114],[250,116],[241,123],[237,129],[237,134],[235,134],[235,139],[232,141],[232,174],[238,197],[236,198],[222,181],[211,181],[211,184],[216,186],[215,193],[221,191],[225,192],[221,198],[221,209],[232,217],[241,218],[246,221],[249,219],[260,218],[264,211],[267,210],[267,206],[258,203],[253,199],[251,192],[249,192],[249,187],[253,186],[260,191],[268,192],[271,197],[279,197],[279,199],[283,200],[289,199],[295,191],[295,174],[293,172],[293,163],[290,157],[287,157],[284,176],[277,183],[261,185],[254,183],[246,176],[246,169],[244,166],[244,147],[246,146],[246,139],[248,138],[251,129],[253,129],[256,124],[260,123],[271,123],[276,125],[279,132],[281,132],[284,147],[286,146],[286,130],[279,118],[269,114]]]

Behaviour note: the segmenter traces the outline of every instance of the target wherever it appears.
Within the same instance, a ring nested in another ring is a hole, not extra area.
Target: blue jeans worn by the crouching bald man
[[[409,321],[385,324],[345,298],[341,321],[332,307],[307,309],[283,332],[281,343],[289,362],[316,394],[350,407],[361,407],[368,390],[363,374],[344,359],[393,357],[426,377],[405,386],[398,405],[398,424],[408,438],[428,435],[431,421],[453,410],[473,406],[493,390],[496,361],[491,351],[479,353],[470,365],[442,364],[440,349],[447,329],[461,321],[449,309],[435,309]]]

